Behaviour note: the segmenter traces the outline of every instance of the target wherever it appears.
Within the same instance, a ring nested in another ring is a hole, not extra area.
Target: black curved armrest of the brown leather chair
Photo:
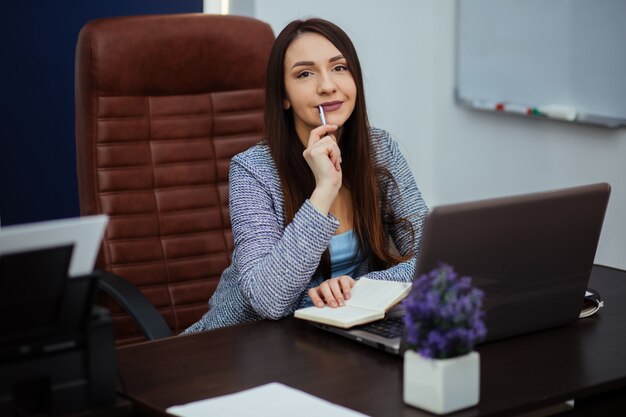
[[[120,276],[101,271],[98,287],[110,295],[137,323],[148,340],[172,335],[163,316],[148,299],[130,282]]]

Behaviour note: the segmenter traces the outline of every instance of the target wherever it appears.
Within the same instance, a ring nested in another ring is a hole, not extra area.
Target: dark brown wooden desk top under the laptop
[[[626,272],[594,267],[590,286],[606,304],[596,316],[481,345],[480,403],[454,415],[512,415],[624,390]],[[429,415],[402,401],[401,357],[291,318],[123,347],[117,356],[144,414],[278,381],[371,416]]]

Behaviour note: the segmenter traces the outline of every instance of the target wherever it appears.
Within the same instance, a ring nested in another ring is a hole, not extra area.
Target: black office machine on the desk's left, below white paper
[[[113,330],[97,274],[69,277],[72,245],[0,255],[0,415],[114,401]]]

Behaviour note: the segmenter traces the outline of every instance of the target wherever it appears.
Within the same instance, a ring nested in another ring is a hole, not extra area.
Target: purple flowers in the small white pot
[[[483,292],[469,277],[440,264],[419,276],[404,299],[406,342],[427,358],[464,355],[485,338]]]

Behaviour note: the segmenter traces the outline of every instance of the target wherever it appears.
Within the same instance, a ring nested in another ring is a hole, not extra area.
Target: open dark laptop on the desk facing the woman
[[[485,292],[484,342],[574,322],[581,311],[611,187],[607,183],[433,208],[415,277],[440,262]],[[384,320],[344,330],[385,351],[403,351],[402,306]],[[388,328],[395,332],[388,333]],[[386,334],[386,337],[382,336]]]

